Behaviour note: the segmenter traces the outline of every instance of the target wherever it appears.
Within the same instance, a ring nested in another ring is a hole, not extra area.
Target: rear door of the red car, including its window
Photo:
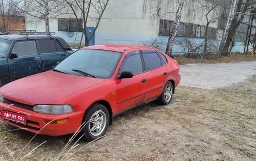
[[[167,79],[168,68],[163,58],[154,50],[141,50],[147,71],[147,100],[161,95]]]

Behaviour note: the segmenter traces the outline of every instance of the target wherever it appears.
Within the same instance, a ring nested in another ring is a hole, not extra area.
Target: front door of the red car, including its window
[[[147,90],[147,75],[143,72],[143,63],[139,51],[127,54],[122,62],[118,75],[122,71],[130,71],[133,77],[116,80],[117,113],[121,113],[134,105],[144,102]]]

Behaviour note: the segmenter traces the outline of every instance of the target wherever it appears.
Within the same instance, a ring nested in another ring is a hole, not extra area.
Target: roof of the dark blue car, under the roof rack
[[[18,35],[18,34],[10,34],[10,35],[0,35],[0,39],[8,39],[13,40],[14,42],[17,40],[35,40],[35,39],[58,39],[58,36],[52,35]]]

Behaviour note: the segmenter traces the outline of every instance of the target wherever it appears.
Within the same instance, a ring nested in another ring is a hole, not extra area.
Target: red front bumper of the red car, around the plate
[[[2,110],[25,114],[27,116],[26,125],[22,125],[17,122],[3,119]],[[0,102],[0,119],[7,122],[9,125],[15,126],[17,128],[24,128],[26,131],[33,133],[38,133],[42,135],[49,136],[61,136],[66,134],[72,134],[77,131],[81,126],[81,121],[84,116],[84,111],[77,111],[65,114],[43,114],[30,111],[28,109],[20,108],[15,105],[10,105],[7,103]],[[60,120],[68,119],[65,123],[60,124],[46,124],[44,120]]]

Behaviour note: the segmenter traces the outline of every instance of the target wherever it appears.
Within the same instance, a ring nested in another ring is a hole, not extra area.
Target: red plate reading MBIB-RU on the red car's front
[[[25,114],[10,112],[6,110],[2,110],[2,117],[3,119],[8,119],[17,123],[22,123],[23,125],[26,125],[27,116]]]

